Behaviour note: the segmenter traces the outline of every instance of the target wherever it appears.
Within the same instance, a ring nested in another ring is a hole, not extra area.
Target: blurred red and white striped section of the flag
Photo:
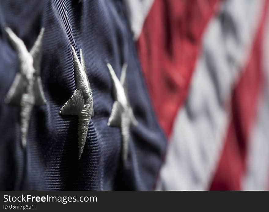
[[[125,2],[168,139],[156,189],[268,189],[268,1]]]

